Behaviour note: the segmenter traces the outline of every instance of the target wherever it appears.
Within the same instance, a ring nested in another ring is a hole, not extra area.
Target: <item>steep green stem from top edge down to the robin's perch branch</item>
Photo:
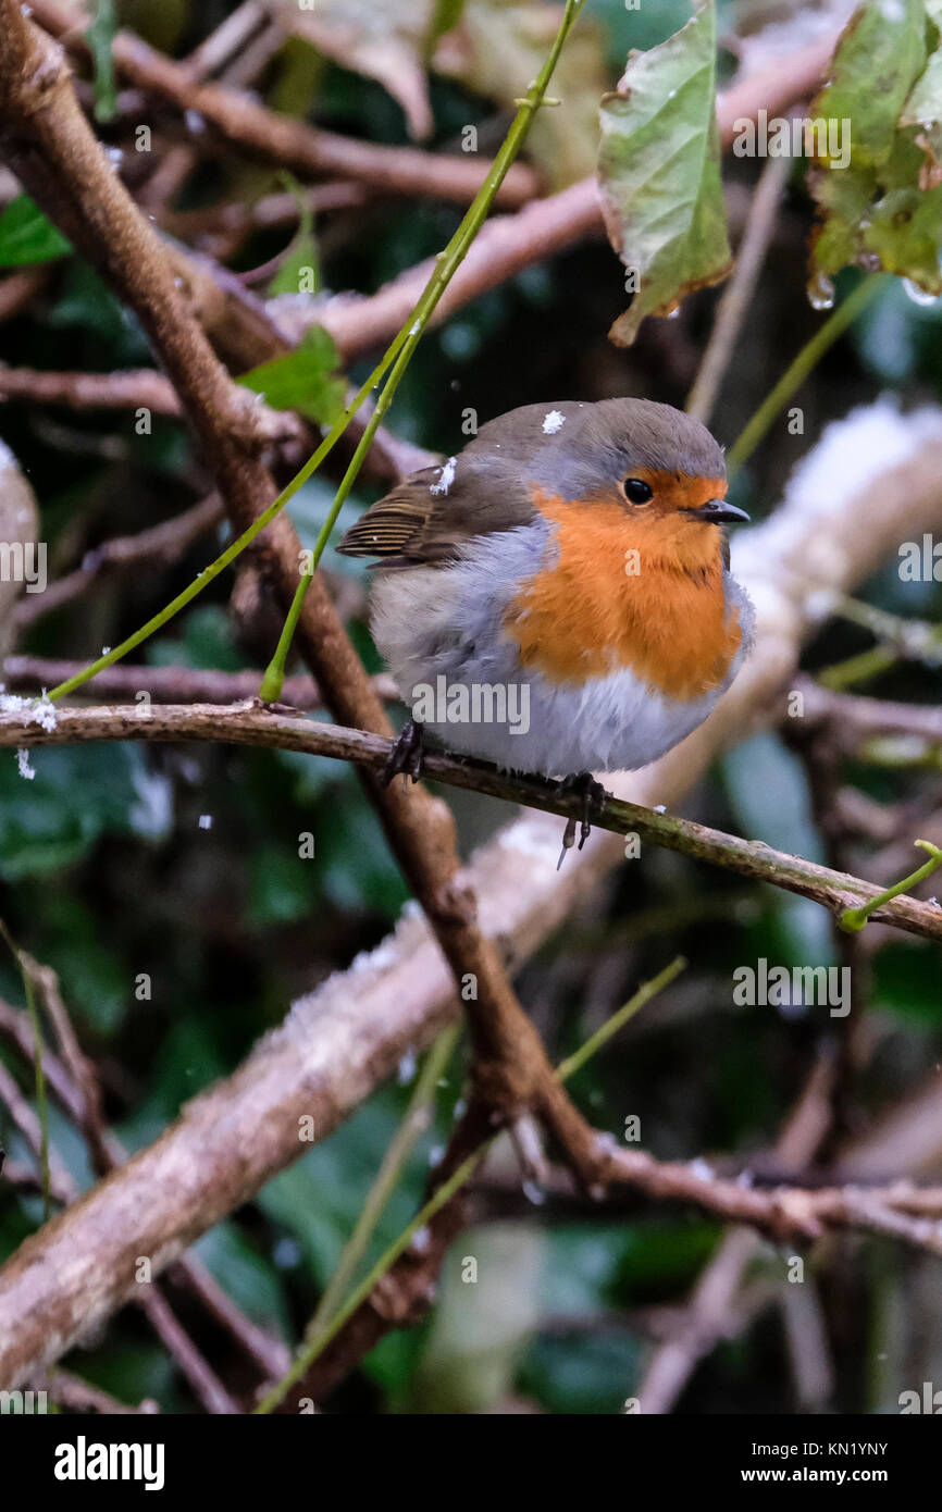
[[[284,673],[287,667],[287,655],[290,650],[295,631],[298,627],[301,608],[304,605],[304,599],[310,588],[311,578],[318,570],[318,565],[324,555],[324,549],[330,540],[330,534],[337,522],[337,516],[340,514],[340,510],[343,508],[349,496],[349,491],[354,482],[357,481],[357,475],[363,464],[363,458],[366,457],[370,448],[372,438],[383,420],[383,416],[387,413],[393,401],[396,389],[399,387],[399,383],[402,380],[402,375],[405,373],[405,369],[411,361],[413,352],[416,351],[416,346],[419,345],[422,336],[425,334],[428,322],[435,310],[435,305],[438,304],[442,295],[448,289],[457,269],[461,266],[461,262],[464,260],[475,236],[484,225],[484,221],[487,219],[490,207],[494,201],[494,197],[500,184],[504,183],[504,178],[507,177],[507,171],[510,169],[523,142],[526,141],[528,132],[532,125],[534,113],[540,109],[541,104],[546,103],[546,86],[549,85],[549,80],[553,74],[556,60],[562,50],[562,44],[566,42],[566,38],[576,20],[576,12],[581,5],[582,0],[567,0],[566,14],[559,24],[559,30],[556,32],[556,36],[553,39],[553,45],[550,47],[549,56],[543,64],[543,68],[540,70],[531,88],[528,89],[525,100],[520,103],[520,109],[517,110],[511,122],[511,127],[507,136],[504,138],[500,150],[497,151],[497,156],[494,157],[487,172],[487,177],[481,184],[481,189],[478,191],[472,204],[469,206],[458,230],[452,236],[445,251],[438,253],[432,275],[428,280],[425,289],[422,290],[416,302],[416,307],[408,316],[405,325],[402,327],[402,331],[399,333],[399,336],[404,337],[402,348],[399,351],[399,355],[389,378],[386,380],[386,384],[383,386],[383,393],[376,399],[376,405],[360,438],[360,445],[357,446],[357,451],[351,458],[349,467],[343,475],[340,487],[337,488],[337,494],[331,505],[330,514],[327,516],[327,520],[324,522],[321,534],[318,535],[318,540],[315,543],[310,565],[305,569],[301,582],[298,584],[298,588],[295,591],[295,597],[292,599],[292,605],[287,611],[284,626],[281,627],[278,646],[275,647],[275,653],[265,670],[262,686],[259,688],[259,697],[262,699],[263,703],[275,703],[281,697],[281,686],[284,682]]]

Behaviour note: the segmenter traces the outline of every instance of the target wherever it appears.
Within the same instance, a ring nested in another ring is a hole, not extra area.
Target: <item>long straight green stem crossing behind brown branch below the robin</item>
[[[641,987],[638,987],[634,998],[631,998],[624,1004],[624,1007],[618,1009],[615,1015],[618,1027],[621,1024],[626,1024],[627,1019],[632,1016],[632,1013],[635,1013],[640,1007],[643,1007],[646,1002],[650,1002],[655,993],[661,992],[661,989],[665,987],[668,981],[673,981],[677,972],[683,969],[683,965],[685,965],[683,960],[677,957],[677,960],[673,960],[670,966],[665,966],[664,971],[659,972],[652,981],[646,981]],[[572,1074],[578,1070],[588,1060],[588,1057],[603,1043],[603,1039],[609,1037],[608,1034],[603,1036],[606,1027],[608,1025],[603,1025],[602,1030],[599,1030],[596,1034],[591,1036],[591,1039],[587,1042],[587,1045],[582,1046],[582,1049],[576,1051],[575,1055],[570,1055],[569,1060],[564,1060],[562,1064],[556,1067],[558,1081],[567,1081],[569,1077],[572,1077]],[[360,1285],[354,1291],[351,1291],[343,1306],[337,1312],[334,1312],[334,1317],[330,1320],[330,1323],[327,1323],[325,1328],[322,1328],[321,1332],[301,1349],[290,1370],[281,1377],[281,1380],[277,1382],[277,1385],[272,1387],[268,1396],[262,1399],[262,1402],[256,1408],[257,1414],[274,1412],[278,1403],[284,1400],[290,1388],[298,1380],[301,1380],[304,1374],[307,1374],[318,1355],[321,1355],[327,1349],[327,1346],[337,1337],[343,1325],[348,1321],[348,1318],[354,1315],[360,1303],[369,1297],[376,1282],[380,1282],[383,1276],[390,1270],[390,1267],[395,1266],[395,1263],[399,1259],[399,1255],[405,1253],[405,1250],[411,1244],[419,1229],[425,1228],[434,1219],[434,1216],[440,1213],[448,1202],[451,1202],[455,1193],[460,1191],[467,1181],[470,1181],[478,1166],[487,1155],[488,1149],[497,1139],[499,1136],[494,1134],[481,1146],[481,1149],[476,1149],[473,1155],[469,1155],[467,1160],[463,1161],[463,1164],[452,1172],[448,1181],[445,1181],[437,1188],[435,1194],[429,1198],[425,1207],[419,1213],[416,1213],[414,1219],[399,1234],[399,1238],[389,1246],[386,1253],[380,1256],[380,1259],[369,1272],[369,1275],[366,1275],[360,1282]]]

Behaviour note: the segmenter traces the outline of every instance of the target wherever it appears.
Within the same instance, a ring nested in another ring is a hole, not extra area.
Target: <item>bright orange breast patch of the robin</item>
[[[742,629],[715,528],[691,562],[617,503],[534,503],[556,526],[558,559],[522,585],[505,617],[525,667],[561,683],[631,670],[682,702],[720,686]]]

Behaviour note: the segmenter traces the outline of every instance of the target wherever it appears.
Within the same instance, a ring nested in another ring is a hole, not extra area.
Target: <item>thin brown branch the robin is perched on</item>
[[[393,742],[364,730],[313,724],[292,714],[277,712],[257,700],[221,709],[213,705],[162,705],[150,712],[141,705],[91,709],[57,708],[54,729],[36,723],[35,712],[0,712],[0,747],[60,745],[79,741],[230,741],[234,745],[266,745],[351,761],[380,773]],[[582,797],[561,792],[558,783],[543,777],[497,771],[485,762],[428,753],[425,776],[470,792],[522,803],[561,818],[581,818]],[[680,820],[671,813],[640,807],[608,795],[593,823],[612,835],[637,835],[643,844],[664,845],[694,860],[735,871],[753,881],[767,881],[800,897],[812,898],[832,913],[856,907],[882,891],[847,872],[832,871],[815,862],[774,850],[761,841]],[[901,895],[872,913],[872,919],[895,924],[910,934],[942,939],[942,909]]]

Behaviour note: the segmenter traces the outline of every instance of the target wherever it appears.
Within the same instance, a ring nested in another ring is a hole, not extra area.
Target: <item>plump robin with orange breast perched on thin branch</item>
[[[452,751],[581,785],[662,756],[748,653],[729,573],[723,451],[667,404],[529,404],[399,484],[340,550],[375,556],[370,627],[422,730]],[[570,839],[572,842],[572,839]]]

